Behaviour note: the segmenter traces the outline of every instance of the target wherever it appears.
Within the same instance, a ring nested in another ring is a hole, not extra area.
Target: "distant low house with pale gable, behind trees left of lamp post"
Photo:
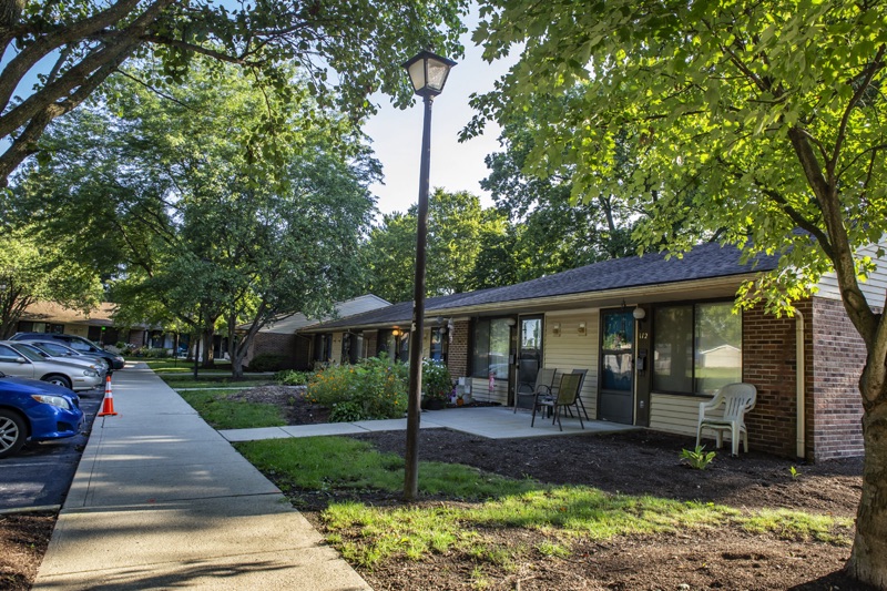
[[[283,316],[259,329],[249,345],[245,365],[248,366],[257,355],[282,356],[284,358],[283,366],[293,369],[309,369],[315,361],[339,363],[341,359],[346,359],[355,363],[367,356],[367,347],[370,345],[364,343],[363,334],[353,335],[346,330],[337,332],[335,335],[323,332],[306,335],[299,330],[316,326],[324,320],[346,318],[390,305],[390,302],[376,295],[366,294],[337,303],[334,307],[335,312],[325,318],[308,318],[302,313]],[[246,330],[248,325],[238,328]],[[375,344],[371,345],[371,355],[375,355]]]

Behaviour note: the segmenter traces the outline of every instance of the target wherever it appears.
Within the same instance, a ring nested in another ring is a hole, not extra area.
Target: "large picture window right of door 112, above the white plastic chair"
[[[742,318],[732,302],[657,307],[653,389],[712,394],[742,381]]]

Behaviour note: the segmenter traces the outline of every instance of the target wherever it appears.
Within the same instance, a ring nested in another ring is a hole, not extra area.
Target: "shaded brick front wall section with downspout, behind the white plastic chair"
[[[796,307],[804,315],[804,357],[807,391],[812,378],[813,304],[798,302]],[[753,449],[785,457],[796,457],[796,318],[776,318],[764,313],[763,306],[743,313],[743,381],[757,388],[757,404],[746,417],[748,446]],[[806,455],[813,451],[812,410],[813,400],[805,401]]]

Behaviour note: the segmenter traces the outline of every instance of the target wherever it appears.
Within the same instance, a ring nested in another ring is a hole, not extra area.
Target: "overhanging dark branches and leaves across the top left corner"
[[[80,105],[121,64],[152,54],[154,80],[181,82],[193,55],[236,63],[256,82],[284,86],[281,64],[299,64],[322,102],[359,119],[381,90],[411,100],[400,63],[435,45],[461,54],[466,0],[2,0],[0,183],[55,118]],[[333,92],[330,92],[333,91]],[[17,95],[17,93],[19,95]]]

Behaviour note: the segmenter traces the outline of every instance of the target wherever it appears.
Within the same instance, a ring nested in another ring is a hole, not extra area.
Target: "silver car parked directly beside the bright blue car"
[[[0,371],[8,376],[42,379],[72,390],[92,390],[102,385],[99,373],[70,361],[49,360],[42,355],[18,348],[17,342],[0,342]]]

